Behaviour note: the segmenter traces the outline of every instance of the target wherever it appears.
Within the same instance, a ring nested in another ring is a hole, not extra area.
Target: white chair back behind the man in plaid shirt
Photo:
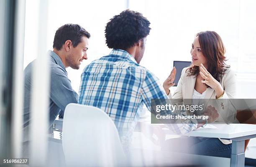
[[[67,105],[62,146],[67,167],[119,167],[125,164],[115,124],[97,107]]]

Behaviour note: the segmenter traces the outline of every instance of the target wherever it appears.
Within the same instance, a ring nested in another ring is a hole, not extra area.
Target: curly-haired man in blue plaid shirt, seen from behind
[[[131,143],[143,105],[150,110],[151,99],[168,99],[159,79],[139,65],[151,29],[149,25],[141,13],[132,10],[115,15],[105,28],[106,44],[113,50],[92,61],[81,75],[78,103],[98,107],[112,118],[124,150]],[[209,114],[209,121],[217,119],[216,113],[215,110]],[[188,120],[184,124],[169,124],[169,128],[180,134],[204,123]]]

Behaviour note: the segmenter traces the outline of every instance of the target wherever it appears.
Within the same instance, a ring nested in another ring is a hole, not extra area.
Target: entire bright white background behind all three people
[[[37,1],[26,1],[24,67],[36,57],[37,27],[33,15]],[[77,23],[88,30],[88,60],[79,70],[68,68],[72,87],[78,92],[83,68],[107,55],[104,30],[108,20],[125,10],[126,0],[49,1],[48,49],[55,31],[66,23]],[[256,1],[255,0],[129,0],[129,8],[143,13],[151,22],[151,32],[141,65],[159,77],[169,75],[174,60],[191,61],[190,48],[195,34],[214,30],[222,37],[228,64],[238,75],[239,97],[253,98],[256,82]]]

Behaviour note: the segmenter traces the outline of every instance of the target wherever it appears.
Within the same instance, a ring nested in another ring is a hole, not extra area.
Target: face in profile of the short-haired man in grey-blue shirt
[[[70,53],[66,57],[67,65],[78,70],[81,62],[87,60],[88,38],[83,36],[81,42],[76,46],[70,46]]]

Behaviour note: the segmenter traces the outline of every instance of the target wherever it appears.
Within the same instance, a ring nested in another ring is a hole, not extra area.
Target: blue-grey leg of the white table
[[[244,140],[232,140],[230,167],[244,167]]]

